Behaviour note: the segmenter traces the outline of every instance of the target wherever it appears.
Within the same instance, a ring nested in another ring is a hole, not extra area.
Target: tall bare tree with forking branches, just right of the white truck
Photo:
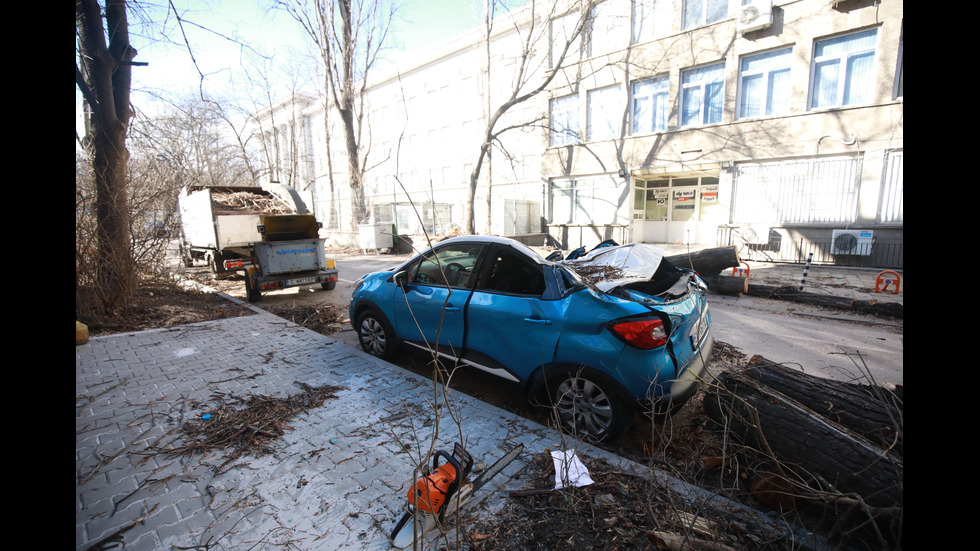
[[[364,137],[365,92],[368,75],[385,48],[394,5],[385,0],[313,0],[312,5],[305,0],[280,0],[278,6],[302,25],[323,62],[328,101],[324,126],[329,129],[327,111],[336,109],[344,129],[351,227],[356,229],[368,217],[363,186],[370,153],[365,145],[370,140]]]

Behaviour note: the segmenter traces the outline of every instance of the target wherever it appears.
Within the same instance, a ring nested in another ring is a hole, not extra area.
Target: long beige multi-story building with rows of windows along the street
[[[902,2],[604,0],[575,35],[582,5],[539,5],[533,23],[525,6],[489,47],[475,29],[371,83],[374,222],[465,227],[489,113],[523,77],[523,91],[547,86],[495,126],[513,129],[481,171],[477,231],[901,267]],[[325,150],[322,132],[310,143]],[[323,178],[315,188],[346,230],[345,166],[333,162],[332,196]]]

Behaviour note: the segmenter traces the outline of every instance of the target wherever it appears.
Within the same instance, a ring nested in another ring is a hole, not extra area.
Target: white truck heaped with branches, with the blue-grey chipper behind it
[[[282,184],[186,186],[178,204],[184,264],[204,260],[215,277],[244,271],[249,301],[264,290],[337,285],[320,224],[296,190]]]

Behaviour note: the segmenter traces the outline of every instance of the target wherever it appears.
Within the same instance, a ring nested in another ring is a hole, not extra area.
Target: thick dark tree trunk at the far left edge
[[[103,20],[105,25],[103,25]],[[108,32],[107,32],[108,31]],[[130,249],[126,135],[133,59],[124,0],[75,1],[75,86],[85,101],[86,136],[96,188],[96,267],[93,282],[103,311],[121,305],[135,288]]]

